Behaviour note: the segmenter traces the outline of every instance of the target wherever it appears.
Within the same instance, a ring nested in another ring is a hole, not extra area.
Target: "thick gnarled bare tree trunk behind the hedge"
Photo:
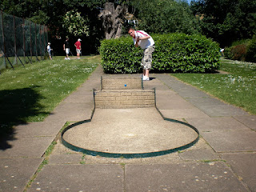
[[[119,38],[122,32],[122,18],[127,12],[126,6],[117,6],[114,8],[114,2],[106,2],[104,10],[98,14],[102,19],[102,26],[105,32],[105,38]]]

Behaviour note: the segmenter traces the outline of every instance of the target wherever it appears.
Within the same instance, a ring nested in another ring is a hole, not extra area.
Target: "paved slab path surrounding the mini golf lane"
[[[92,90],[100,88],[101,75],[106,74],[99,66],[44,122],[16,127],[15,139],[8,141],[10,148],[0,150],[0,191],[24,191],[30,179],[26,188],[30,192],[256,191],[255,115],[169,74],[152,74],[144,87],[156,88],[157,106],[166,118],[188,122],[199,130],[194,146],[158,157],[129,159],[67,149],[59,141],[59,131],[66,122],[90,118]],[[57,144],[46,158],[44,153],[54,140]],[[46,165],[36,173],[42,162]]]

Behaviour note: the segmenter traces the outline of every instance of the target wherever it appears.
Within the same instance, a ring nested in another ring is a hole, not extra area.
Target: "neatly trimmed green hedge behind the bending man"
[[[155,72],[211,72],[219,68],[219,46],[199,34],[154,34]],[[138,73],[143,50],[131,37],[103,40],[100,54],[105,73]]]

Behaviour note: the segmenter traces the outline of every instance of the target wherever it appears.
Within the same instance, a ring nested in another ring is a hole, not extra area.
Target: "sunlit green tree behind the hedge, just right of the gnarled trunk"
[[[174,0],[137,0],[131,2],[136,9],[139,28],[154,33],[198,33],[197,20],[186,2]]]

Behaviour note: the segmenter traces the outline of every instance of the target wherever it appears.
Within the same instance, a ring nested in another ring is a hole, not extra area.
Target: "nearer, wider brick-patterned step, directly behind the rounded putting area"
[[[94,90],[95,108],[122,109],[155,106],[155,90]]]

